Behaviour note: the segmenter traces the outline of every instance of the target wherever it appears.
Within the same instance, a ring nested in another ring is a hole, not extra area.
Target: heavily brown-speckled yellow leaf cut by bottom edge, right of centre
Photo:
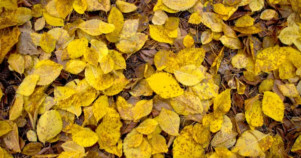
[[[202,157],[203,147],[193,139],[193,126],[185,126],[180,135],[176,137],[173,144],[173,156],[175,158],[180,157]]]

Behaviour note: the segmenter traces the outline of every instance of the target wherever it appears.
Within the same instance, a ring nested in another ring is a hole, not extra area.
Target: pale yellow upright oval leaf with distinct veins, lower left
[[[55,109],[46,111],[41,115],[37,125],[39,140],[45,143],[60,133],[62,128],[63,122],[60,113]]]

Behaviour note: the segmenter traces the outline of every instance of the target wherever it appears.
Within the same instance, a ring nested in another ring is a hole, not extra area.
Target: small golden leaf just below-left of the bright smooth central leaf
[[[153,99],[138,101],[133,108],[134,122],[148,115],[152,111],[152,109],[153,109]]]

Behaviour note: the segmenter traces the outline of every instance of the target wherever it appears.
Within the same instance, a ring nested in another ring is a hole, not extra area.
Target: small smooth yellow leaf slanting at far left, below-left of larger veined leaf
[[[26,76],[22,83],[19,85],[16,92],[24,96],[29,96],[34,92],[38,79],[39,75],[37,74]]]

